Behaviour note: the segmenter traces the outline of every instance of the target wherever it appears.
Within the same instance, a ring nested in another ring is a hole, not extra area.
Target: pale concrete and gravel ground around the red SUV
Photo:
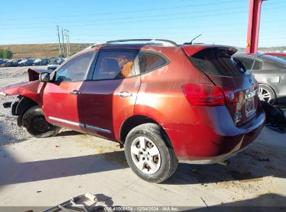
[[[0,68],[0,87],[26,80],[25,70]],[[230,158],[228,167],[181,164],[166,182],[152,184],[129,169],[118,144],[68,130],[53,138],[31,138],[17,127],[10,110],[0,107],[0,206],[37,211],[34,206],[49,208],[91,192],[109,206],[285,210],[286,134],[264,128],[248,149]]]

